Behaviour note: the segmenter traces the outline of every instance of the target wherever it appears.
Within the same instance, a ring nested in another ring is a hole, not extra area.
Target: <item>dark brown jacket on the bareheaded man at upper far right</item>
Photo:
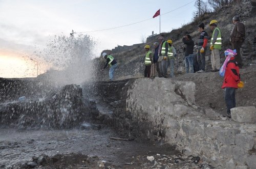
[[[230,42],[244,42],[245,39],[245,25],[244,23],[238,21],[234,24],[234,27],[230,34]]]

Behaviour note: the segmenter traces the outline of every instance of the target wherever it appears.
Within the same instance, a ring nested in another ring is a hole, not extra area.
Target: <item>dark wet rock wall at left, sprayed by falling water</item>
[[[25,100],[2,104],[2,125],[19,128],[71,128],[86,117],[82,101],[82,89],[67,85],[45,100]]]

